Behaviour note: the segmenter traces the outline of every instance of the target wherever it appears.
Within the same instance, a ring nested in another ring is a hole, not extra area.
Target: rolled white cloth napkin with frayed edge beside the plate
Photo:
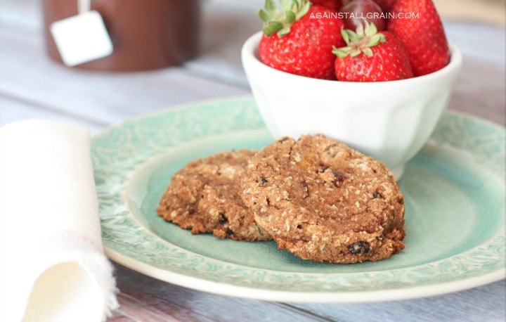
[[[105,321],[116,292],[89,131],[42,120],[2,127],[0,321]]]

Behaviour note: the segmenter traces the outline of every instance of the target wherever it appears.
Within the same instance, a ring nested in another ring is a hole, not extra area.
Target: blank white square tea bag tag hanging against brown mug
[[[67,66],[87,63],[112,53],[112,41],[97,11],[86,11],[58,20],[51,24],[50,29]]]

